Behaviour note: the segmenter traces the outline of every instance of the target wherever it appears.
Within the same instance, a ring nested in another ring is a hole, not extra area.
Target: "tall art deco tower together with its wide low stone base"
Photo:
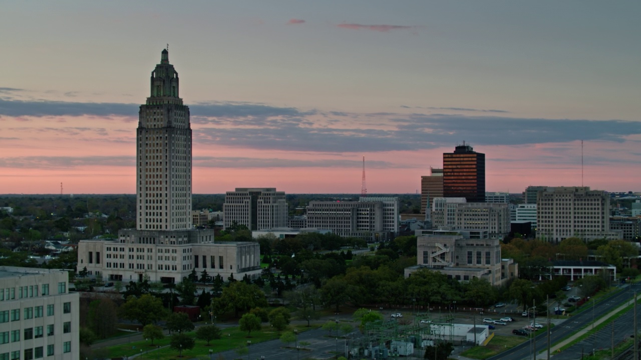
[[[179,282],[192,270],[213,268],[237,279],[260,274],[257,243],[215,244],[213,230],[192,228],[192,130],[178,95],[178,72],[165,49],[138,113],[137,227],[122,229],[117,240],[79,241],[78,269],[92,277]]]

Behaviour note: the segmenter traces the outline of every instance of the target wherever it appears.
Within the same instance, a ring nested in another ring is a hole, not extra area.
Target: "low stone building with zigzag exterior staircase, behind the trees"
[[[421,268],[442,272],[458,281],[479,278],[493,285],[518,276],[513,261],[501,258],[501,241],[490,239],[485,230],[420,232],[423,235],[417,238],[418,264],[406,268],[405,277]]]

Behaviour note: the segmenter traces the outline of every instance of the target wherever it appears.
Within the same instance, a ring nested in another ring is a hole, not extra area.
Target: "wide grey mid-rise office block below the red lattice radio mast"
[[[362,197],[360,201],[310,201],[307,227],[330,229],[343,237],[378,242],[392,240],[398,233],[398,199]]]

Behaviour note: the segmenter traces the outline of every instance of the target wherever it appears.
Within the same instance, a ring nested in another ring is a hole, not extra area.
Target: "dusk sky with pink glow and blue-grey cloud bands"
[[[416,193],[463,142],[486,154],[490,192],[641,191],[638,13],[623,0],[4,1],[0,193],[135,193],[138,106],[167,46],[194,193],[360,193],[363,156],[368,193]]]

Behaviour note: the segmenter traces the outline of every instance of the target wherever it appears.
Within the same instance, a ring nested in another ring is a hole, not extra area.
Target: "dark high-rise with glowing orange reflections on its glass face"
[[[485,154],[473,151],[465,142],[443,154],[443,197],[485,202]]]

